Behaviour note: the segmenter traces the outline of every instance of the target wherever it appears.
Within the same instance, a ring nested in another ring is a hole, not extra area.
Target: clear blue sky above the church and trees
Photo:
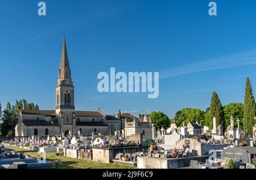
[[[205,110],[213,91],[222,104],[243,102],[246,77],[256,88],[256,2],[99,0],[0,1],[0,101],[27,99],[55,109],[63,34],[76,110],[133,114],[184,107]],[[159,72],[159,98],[98,93],[97,74]]]

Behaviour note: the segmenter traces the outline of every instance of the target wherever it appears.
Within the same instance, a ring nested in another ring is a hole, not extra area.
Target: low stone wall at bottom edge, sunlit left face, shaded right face
[[[148,156],[137,157],[139,169],[175,169],[184,168],[190,165],[191,160],[205,162],[209,156],[194,156],[184,158],[155,158]]]

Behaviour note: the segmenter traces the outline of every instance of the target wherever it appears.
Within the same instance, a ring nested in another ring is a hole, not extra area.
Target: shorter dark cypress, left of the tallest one
[[[218,98],[218,94],[214,91],[212,93],[212,99],[210,100],[210,110],[209,110],[209,129],[213,129],[213,118],[217,119],[217,126],[222,125],[225,129],[225,118],[224,111],[220,101]]]

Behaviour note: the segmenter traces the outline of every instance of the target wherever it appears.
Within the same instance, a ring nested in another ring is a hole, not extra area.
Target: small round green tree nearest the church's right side
[[[170,127],[170,119],[163,112],[152,112],[150,117],[156,129],[160,129],[162,127],[167,129]]]

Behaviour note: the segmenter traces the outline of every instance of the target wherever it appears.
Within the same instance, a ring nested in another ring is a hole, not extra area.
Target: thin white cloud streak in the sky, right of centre
[[[256,64],[256,49],[224,57],[213,58],[194,64],[188,64],[181,66],[180,68],[170,69],[160,73],[160,78],[168,78],[184,74],[207,72],[210,70],[234,68],[253,64]]]

